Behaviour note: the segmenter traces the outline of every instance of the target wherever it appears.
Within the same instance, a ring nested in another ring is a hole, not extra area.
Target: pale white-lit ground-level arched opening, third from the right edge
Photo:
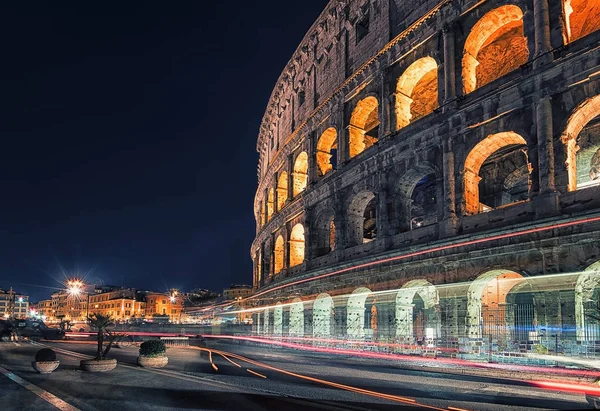
[[[440,335],[439,295],[427,280],[407,282],[396,295],[396,337],[423,344]]]

